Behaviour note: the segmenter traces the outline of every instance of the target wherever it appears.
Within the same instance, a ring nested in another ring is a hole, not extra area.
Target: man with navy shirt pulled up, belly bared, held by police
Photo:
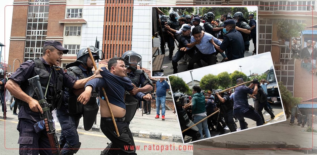
[[[103,96],[103,92],[100,89],[100,129],[103,134],[111,140],[113,148],[120,148],[115,150],[105,149],[104,151],[113,151],[111,154],[136,154],[135,149],[132,150],[131,148],[124,148],[124,146],[134,146],[132,133],[127,122],[125,122],[126,105],[124,103],[124,94],[125,90],[130,92],[137,88],[133,86],[131,80],[126,77],[125,63],[122,57],[111,58],[108,62],[109,70],[105,67],[102,67],[101,69],[103,71],[100,72],[100,75],[103,78],[88,81],[85,85],[85,91],[81,93],[77,100],[85,105],[90,99],[92,90],[96,87],[104,87],[120,133],[120,137],[118,137],[116,132],[113,130],[114,125],[110,110],[107,106],[105,96]],[[152,99],[151,94],[145,95],[142,92],[138,92],[134,95],[134,97],[139,100]]]

